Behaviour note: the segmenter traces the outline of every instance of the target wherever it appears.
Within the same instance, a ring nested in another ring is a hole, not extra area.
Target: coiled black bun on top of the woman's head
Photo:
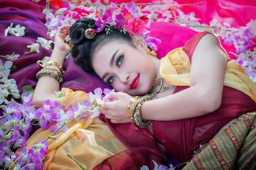
[[[71,27],[70,27],[70,37],[71,42],[74,45],[80,44],[84,41],[84,31],[88,28],[96,29],[98,26],[95,24],[95,20],[90,18],[81,18],[77,20]],[[87,39],[89,40],[89,39]]]

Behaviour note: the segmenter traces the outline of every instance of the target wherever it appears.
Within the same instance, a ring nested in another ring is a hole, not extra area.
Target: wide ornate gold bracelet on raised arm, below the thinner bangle
[[[39,80],[42,76],[51,76],[55,78],[59,83],[63,82],[62,74],[56,68],[43,68],[41,71],[38,71],[36,78]]]

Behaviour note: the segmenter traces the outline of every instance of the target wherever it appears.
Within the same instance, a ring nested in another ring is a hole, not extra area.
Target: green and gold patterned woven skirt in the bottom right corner
[[[246,113],[210,140],[183,170],[256,169],[256,112]]]

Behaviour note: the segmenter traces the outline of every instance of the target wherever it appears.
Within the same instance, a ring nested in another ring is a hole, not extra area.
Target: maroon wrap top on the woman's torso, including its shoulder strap
[[[191,61],[192,54],[201,37],[201,32],[190,39],[183,47]],[[178,93],[189,86],[177,86]],[[192,158],[193,151],[200,144],[209,142],[221,128],[244,113],[256,111],[256,104],[247,94],[224,86],[221,106],[212,113],[190,119],[176,121],[153,121],[153,133],[156,139],[169,153],[185,162]]]

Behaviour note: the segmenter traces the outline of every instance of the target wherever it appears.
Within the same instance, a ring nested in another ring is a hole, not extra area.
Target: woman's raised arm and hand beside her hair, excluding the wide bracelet
[[[57,34],[55,35],[55,47],[52,51],[50,61],[58,62],[63,66],[65,57],[70,52],[70,47],[64,42],[65,37],[70,33],[70,26],[61,26]],[[47,65],[47,67],[57,68],[55,65]],[[53,101],[55,99],[55,91],[60,90],[59,82],[50,76],[43,76],[38,80],[33,94],[32,105],[36,105],[36,108],[43,107],[43,103],[46,100]]]

